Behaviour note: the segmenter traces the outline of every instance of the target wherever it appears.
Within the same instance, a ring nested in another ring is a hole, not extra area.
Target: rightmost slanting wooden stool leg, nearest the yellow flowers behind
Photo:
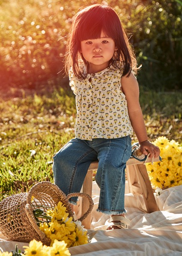
[[[142,164],[134,165],[134,169],[137,173],[137,178],[140,184],[140,188],[143,194],[143,199],[146,204],[146,210],[148,213],[158,211],[158,206],[155,201],[154,193],[151,187],[149,176],[146,170],[146,166]]]

